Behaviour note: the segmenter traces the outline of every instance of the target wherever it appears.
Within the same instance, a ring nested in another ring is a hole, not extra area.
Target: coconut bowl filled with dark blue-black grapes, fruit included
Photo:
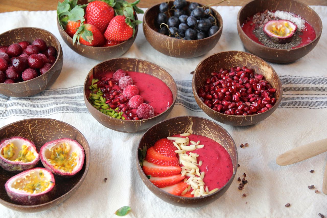
[[[185,0],[154,5],[143,17],[143,31],[150,45],[178,58],[198,57],[213,49],[222,27],[216,10]]]

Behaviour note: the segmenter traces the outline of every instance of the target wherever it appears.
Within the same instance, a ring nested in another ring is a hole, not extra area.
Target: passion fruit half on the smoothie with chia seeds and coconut
[[[298,26],[288,20],[271,20],[263,27],[267,37],[274,43],[285,44],[292,41]]]

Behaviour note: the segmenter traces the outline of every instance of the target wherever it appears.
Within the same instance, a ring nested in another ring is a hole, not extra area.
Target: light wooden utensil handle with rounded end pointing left
[[[293,148],[276,158],[280,166],[294,164],[327,151],[327,138]]]

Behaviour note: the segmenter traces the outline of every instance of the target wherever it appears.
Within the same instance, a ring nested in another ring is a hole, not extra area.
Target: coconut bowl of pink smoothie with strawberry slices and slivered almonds
[[[235,142],[224,128],[191,116],[151,127],[136,155],[146,186],[164,201],[182,207],[200,207],[223,195],[238,161]]]

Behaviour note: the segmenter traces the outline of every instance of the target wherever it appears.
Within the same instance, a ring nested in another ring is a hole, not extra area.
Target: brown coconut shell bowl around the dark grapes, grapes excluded
[[[191,2],[187,2],[185,9]],[[159,5],[154,5],[147,9],[143,17],[143,32],[146,40],[154,47],[157,51],[177,58],[194,58],[208,53],[217,44],[222,30],[223,30],[223,20],[220,14],[210,7],[214,12],[214,16],[217,20],[217,26],[219,26],[218,31],[205,39],[199,40],[183,40],[176,39],[158,32],[160,25],[157,24],[157,16],[159,14]],[[168,2],[168,7],[173,6],[173,1]],[[203,4],[199,4],[203,6]]]

